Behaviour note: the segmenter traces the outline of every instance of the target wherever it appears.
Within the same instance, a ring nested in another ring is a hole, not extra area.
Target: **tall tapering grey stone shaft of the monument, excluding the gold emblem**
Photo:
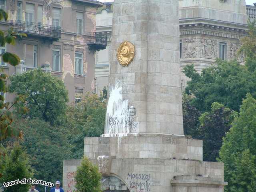
[[[122,67],[115,54],[126,40],[134,44],[136,53],[132,63]],[[183,135],[179,62],[178,2],[116,0],[109,95],[119,97],[115,89],[120,86],[122,100],[119,103],[109,100],[105,134]],[[124,114],[131,107],[135,114]]]

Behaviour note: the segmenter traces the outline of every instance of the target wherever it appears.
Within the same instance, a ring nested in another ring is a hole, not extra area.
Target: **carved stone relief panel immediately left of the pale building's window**
[[[201,39],[202,58],[215,59],[218,56],[218,42],[215,39]]]

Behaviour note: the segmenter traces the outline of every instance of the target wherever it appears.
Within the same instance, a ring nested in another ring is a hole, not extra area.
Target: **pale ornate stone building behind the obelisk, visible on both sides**
[[[152,11],[154,10],[152,7]],[[176,10],[170,10],[176,11]],[[180,15],[180,70],[194,64],[196,70],[214,64],[216,58],[237,58],[239,40],[247,35],[247,20],[256,18],[256,6],[245,0],[179,0]],[[112,2],[98,8],[96,31],[108,36],[105,50],[96,52],[96,92],[108,86],[109,50],[112,31]],[[243,63],[244,57],[238,60]],[[188,79],[182,74],[182,90]]]

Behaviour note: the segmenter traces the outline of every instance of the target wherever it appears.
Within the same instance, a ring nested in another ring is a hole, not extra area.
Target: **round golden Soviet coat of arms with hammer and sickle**
[[[116,58],[118,62],[124,67],[132,62],[135,56],[135,47],[132,43],[125,41],[118,47]]]

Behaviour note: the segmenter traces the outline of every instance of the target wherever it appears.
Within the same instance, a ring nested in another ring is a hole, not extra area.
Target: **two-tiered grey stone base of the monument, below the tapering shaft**
[[[84,154],[99,166],[103,190],[223,192],[224,165],[202,162],[202,140],[138,134],[85,138]]]

